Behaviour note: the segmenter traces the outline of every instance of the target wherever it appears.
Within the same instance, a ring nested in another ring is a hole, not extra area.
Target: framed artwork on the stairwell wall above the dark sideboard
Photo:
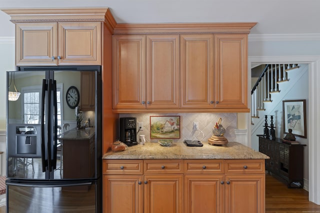
[[[305,99],[282,101],[283,133],[289,133],[306,138]]]

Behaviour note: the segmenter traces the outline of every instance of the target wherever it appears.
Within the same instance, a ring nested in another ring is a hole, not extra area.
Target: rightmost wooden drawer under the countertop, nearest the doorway
[[[225,160],[225,174],[264,174],[264,160]]]

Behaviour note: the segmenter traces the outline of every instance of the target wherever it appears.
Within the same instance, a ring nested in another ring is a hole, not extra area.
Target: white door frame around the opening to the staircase
[[[309,64],[309,119],[307,136],[309,140],[309,201],[320,205],[320,56],[249,56],[248,57],[248,83],[251,82],[251,64],[276,64],[276,63],[307,63]],[[251,85],[248,85],[248,88]],[[251,97],[248,91],[248,97]],[[251,106],[251,98],[248,98]],[[247,138],[251,146],[251,113],[247,113]],[[311,119],[314,118],[314,119]]]

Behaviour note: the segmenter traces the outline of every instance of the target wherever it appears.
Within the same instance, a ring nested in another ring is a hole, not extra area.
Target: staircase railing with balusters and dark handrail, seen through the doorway
[[[251,124],[265,111],[265,103],[272,102],[271,95],[279,93],[279,84],[288,81],[287,71],[299,68],[298,64],[266,64],[251,90]]]

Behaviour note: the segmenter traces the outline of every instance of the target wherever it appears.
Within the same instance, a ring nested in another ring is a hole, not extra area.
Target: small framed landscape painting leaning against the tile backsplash
[[[150,116],[150,139],[180,138],[180,116]]]

